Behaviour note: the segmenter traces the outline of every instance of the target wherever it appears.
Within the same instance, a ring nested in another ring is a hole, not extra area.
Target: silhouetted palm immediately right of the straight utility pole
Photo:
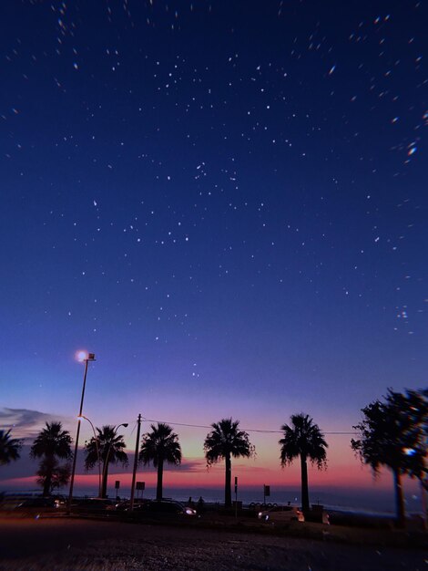
[[[164,462],[178,466],[181,462],[181,446],[178,435],[168,424],[158,422],[158,426],[151,424],[150,428],[151,432],[142,436],[139,461],[144,465],[153,462],[155,468],[158,468],[156,499],[161,500]]]

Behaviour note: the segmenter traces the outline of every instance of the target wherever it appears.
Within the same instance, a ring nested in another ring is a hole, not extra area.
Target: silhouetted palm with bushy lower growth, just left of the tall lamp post
[[[53,484],[58,482],[57,472],[67,470],[66,465],[60,466],[57,459],[68,460],[71,458],[73,455],[70,447],[71,442],[71,436],[68,431],[62,430],[61,422],[51,422],[50,424],[46,422],[46,428],[36,437],[31,447],[30,456],[42,458],[37,472],[39,476],[37,482],[43,487],[43,495],[52,492]],[[68,478],[66,478],[67,481]]]

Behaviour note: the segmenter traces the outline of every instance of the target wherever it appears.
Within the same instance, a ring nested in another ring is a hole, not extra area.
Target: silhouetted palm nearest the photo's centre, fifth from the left
[[[223,419],[211,424],[212,431],[207,434],[204,442],[204,452],[207,463],[210,466],[219,460],[224,459],[226,463],[226,474],[224,482],[224,504],[230,507],[232,496],[230,490],[232,461],[231,458],[243,456],[249,458],[255,451],[250,443],[247,432],[239,431],[239,420]]]

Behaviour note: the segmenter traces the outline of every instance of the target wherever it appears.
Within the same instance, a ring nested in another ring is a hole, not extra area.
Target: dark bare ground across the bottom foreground
[[[0,519],[0,570],[428,571],[417,549],[70,519]]]

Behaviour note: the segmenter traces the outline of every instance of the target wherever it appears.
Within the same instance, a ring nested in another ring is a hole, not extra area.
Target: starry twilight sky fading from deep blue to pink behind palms
[[[167,420],[204,470],[178,423],[352,431],[427,385],[425,3],[0,11],[2,426],[74,434],[81,348],[94,424]],[[285,481],[250,435],[248,482]],[[349,440],[314,478],[372,483]]]

